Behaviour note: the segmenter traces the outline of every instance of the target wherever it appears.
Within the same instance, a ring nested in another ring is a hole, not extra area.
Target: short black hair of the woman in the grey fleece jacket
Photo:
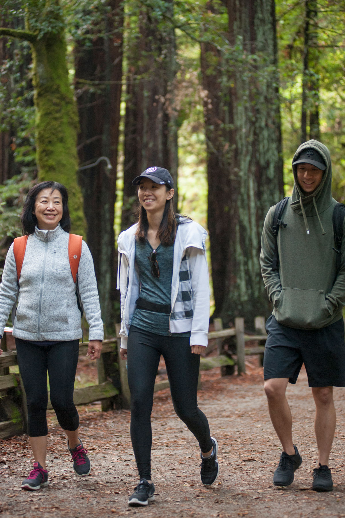
[[[68,210],[68,191],[62,183],[53,182],[53,181],[47,181],[47,182],[40,182],[34,185],[29,192],[27,193],[26,200],[24,203],[24,207],[20,216],[22,227],[23,227],[23,234],[33,234],[35,232],[35,226],[37,225],[37,218],[35,216],[34,209],[35,209],[35,202],[37,195],[43,190],[43,189],[51,189],[51,192],[57,191],[60,192],[62,197],[62,218],[60,221],[61,227],[64,229],[65,232],[70,231],[71,229],[71,219],[69,217],[69,210]]]

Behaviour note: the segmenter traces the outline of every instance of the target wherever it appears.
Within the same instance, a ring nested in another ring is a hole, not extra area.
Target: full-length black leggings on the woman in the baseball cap
[[[151,480],[151,412],[161,354],[176,414],[197,438],[202,452],[212,449],[208,421],[197,401],[200,355],[191,353],[189,338],[154,335],[134,326],[129,329],[127,347],[130,435],[139,477]]]

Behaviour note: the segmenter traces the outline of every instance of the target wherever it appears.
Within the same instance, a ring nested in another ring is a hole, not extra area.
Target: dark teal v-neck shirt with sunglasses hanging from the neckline
[[[171,304],[171,280],[174,265],[174,245],[164,247],[160,244],[157,251],[159,277],[154,277],[151,272],[151,262],[148,259],[153,248],[146,240],[144,243],[136,242],[136,263],[140,273],[140,297],[155,304]],[[169,332],[169,315],[156,313],[145,309],[134,310],[131,325],[150,331],[155,335],[188,337],[188,333]]]

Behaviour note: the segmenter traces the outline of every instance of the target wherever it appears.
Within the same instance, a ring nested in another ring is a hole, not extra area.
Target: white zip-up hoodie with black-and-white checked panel
[[[174,244],[171,280],[170,333],[190,331],[190,345],[207,347],[209,282],[205,239],[198,223],[180,217]],[[140,294],[140,274],[135,262],[136,231],[132,225],[118,236],[117,289],[121,292],[121,348],[127,349],[130,322]],[[182,292],[185,296],[182,297]],[[186,300],[187,299],[187,300]]]

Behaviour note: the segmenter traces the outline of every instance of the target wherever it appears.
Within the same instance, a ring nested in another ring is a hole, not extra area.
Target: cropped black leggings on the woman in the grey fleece
[[[74,379],[79,357],[79,340],[35,346],[16,338],[17,358],[27,401],[27,433],[30,437],[48,434],[47,370],[50,401],[59,425],[77,430],[79,415],[73,403]]]

